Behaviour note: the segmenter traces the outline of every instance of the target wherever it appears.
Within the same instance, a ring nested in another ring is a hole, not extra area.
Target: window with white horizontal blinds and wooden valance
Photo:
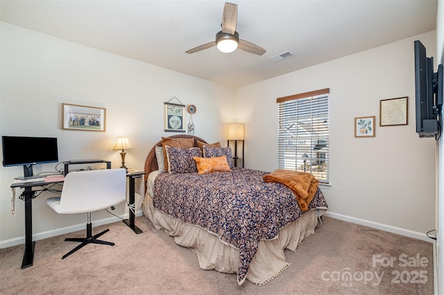
[[[277,99],[278,167],[314,174],[329,183],[329,94],[316,90]]]

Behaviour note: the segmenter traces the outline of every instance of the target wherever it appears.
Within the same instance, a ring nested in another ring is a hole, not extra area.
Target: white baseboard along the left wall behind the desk
[[[136,216],[141,216],[143,214],[142,210],[135,212]],[[94,220],[94,226],[102,226],[103,224],[112,224],[113,222],[121,221],[122,219],[128,219],[129,214],[123,214],[119,217],[110,217],[105,219]],[[39,239],[46,239],[48,237],[56,237],[58,235],[65,235],[65,233],[74,233],[78,230],[85,230],[85,223],[75,224],[74,226],[67,226],[65,228],[56,228],[53,230],[47,230],[42,233],[34,233],[33,241],[38,241]],[[14,239],[6,239],[0,241],[0,249],[8,248],[12,246],[17,246],[20,244],[25,244],[25,236],[15,237]]]

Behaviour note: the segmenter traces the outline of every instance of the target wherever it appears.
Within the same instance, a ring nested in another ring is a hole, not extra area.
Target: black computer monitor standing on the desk
[[[3,166],[23,166],[24,176],[33,176],[33,165],[58,162],[57,137],[1,137]]]

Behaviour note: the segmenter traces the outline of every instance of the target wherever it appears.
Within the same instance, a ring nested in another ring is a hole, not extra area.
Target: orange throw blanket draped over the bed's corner
[[[308,210],[308,205],[318,190],[319,180],[313,174],[285,169],[276,169],[264,176],[266,183],[282,183],[296,195],[300,209]]]

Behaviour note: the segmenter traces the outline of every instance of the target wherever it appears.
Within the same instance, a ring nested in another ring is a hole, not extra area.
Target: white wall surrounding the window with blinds
[[[236,116],[246,123],[246,166],[278,168],[276,98],[330,87],[332,185],[323,189],[330,214],[427,239],[434,228],[436,143],[416,134],[416,39],[435,55],[432,31],[239,87]],[[379,127],[379,100],[401,96],[409,96],[409,124]],[[372,115],[376,137],[355,138],[354,118]]]

